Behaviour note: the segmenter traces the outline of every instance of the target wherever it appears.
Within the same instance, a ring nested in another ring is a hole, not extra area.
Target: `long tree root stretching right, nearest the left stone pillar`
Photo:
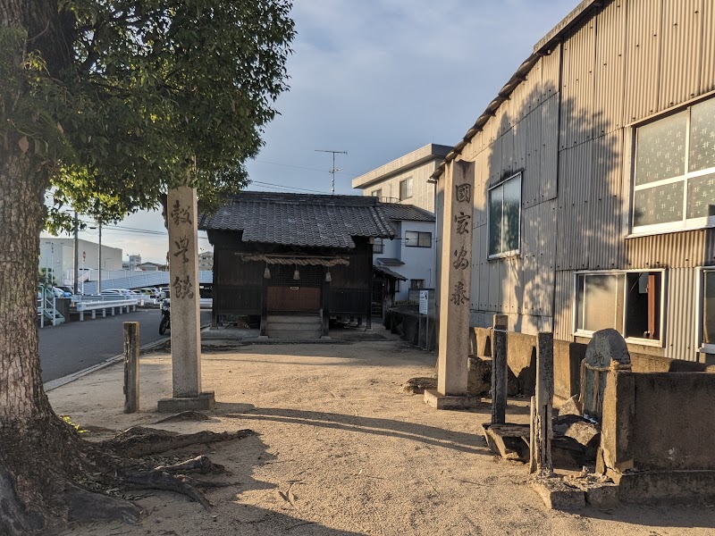
[[[256,432],[252,430],[199,431],[197,433],[181,434],[175,431],[134,426],[127,431],[122,431],[111,440],[101,441],[99,445],[102,448],[113,451],[118,456],[141,457],[159,454],[174,448],[189,447],[190,445],[240,440],[252,435],[256,435]]]

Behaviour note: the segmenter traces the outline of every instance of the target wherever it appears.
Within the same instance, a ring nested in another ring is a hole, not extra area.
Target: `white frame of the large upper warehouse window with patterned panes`
[[[698,179],[703,176],[715,174],[715,166],[699,170],[696,172],[689,172],[690,164],[690,140],[691,140],[691,121],[692,121],[692,110],[694,106],[700,105],[708,100],[715,99],[715,95],[708,94],[702,96],[702,98],[697,98],[689,101],[685,105],[678,106],[674,110],[669,110],[666,113],[659,113],[658,115],[647,118],[644,121],[633,123],[629,125],[632,130],[632,149],[630,151],[631,165],[630,165],[630,184],[629,184],[629,198],[630,206],[628,210],[628,230],[629,234],[627,238],[636,238],[643,236],[651,236],[655,234],[666,234],[670,232],[678,232],[684,230],[697,230],[697,229],[707,229],[710,227],[715,227],[715,215],[713,216],[701,216],[699,218],[687,218],[687,197],[688,197],[688,185],[690,180]],[[639,130],[645,126],[652,123],[673,117],[678,113],[686,113],[686,140],[685,140],[685,162],[683,163],[683,173],[677,177],[671,177],[669,179],[654,180],[646,184],[639,186],[635,185],[635,172],[638,163],[638,134]],[[663,223],[652,223],[650,225],[640,225],[635,226],[635,192],[644,191],[651,188],[658,188],[663,186],[668,186],[669,184],[683,184],[683,219],[677,222],[663,222]]]

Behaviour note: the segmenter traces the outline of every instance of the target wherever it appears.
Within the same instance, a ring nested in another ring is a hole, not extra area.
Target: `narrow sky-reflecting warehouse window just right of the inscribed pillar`
[[[489,190],[489,256],[514,255],[521,234],[521,173]]]

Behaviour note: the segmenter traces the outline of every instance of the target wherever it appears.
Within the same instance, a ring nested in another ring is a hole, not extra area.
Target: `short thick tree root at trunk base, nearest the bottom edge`
[[[122,498],[92,493],[68,484],[64,500],[69,508],[70,521],[119,520],[130,524],[139,523],[141,508]]]

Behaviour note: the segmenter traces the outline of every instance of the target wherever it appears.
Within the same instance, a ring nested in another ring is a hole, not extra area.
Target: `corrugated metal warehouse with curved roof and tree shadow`
[[[459,160],[475,163],[473,326],[508,314],[581,342],[612,327],[632,351],[715,361],[715,1],[582,2],[438,191]]]

